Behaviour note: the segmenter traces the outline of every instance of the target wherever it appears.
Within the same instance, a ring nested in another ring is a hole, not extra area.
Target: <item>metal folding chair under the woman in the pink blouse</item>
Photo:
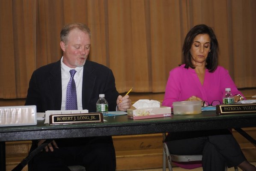
[[[168,169],[169,171],[173,171],[173,167],[171,162],[175,163],[175,165],[186,168],[186,169],[193,169],[202,167],[202,155],[175,155],[170,154],[167,144],[164,142],[166,138],[166,134],[163,133],[163,171],[166,170],[166,158],[168,162]],[[186,164],[185,162],[189,162]],[[238,168],[234,167],[235,171],[238,171]],[[225,169],[227,171],[227,168]]]

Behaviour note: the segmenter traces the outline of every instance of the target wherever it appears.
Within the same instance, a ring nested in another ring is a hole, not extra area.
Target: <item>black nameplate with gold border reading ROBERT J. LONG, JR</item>
[[[102,113],[50,115],[50,124],[103,123]]]

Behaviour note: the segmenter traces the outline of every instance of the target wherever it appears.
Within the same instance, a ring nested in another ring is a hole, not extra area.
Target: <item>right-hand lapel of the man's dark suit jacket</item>
[[[83,88],[82,88],[82,104],[83,109],[89,109],[89,101],[92,98],[92,92],[95,87],[96,76],[93,74],[95,69],[90,65],[90,61],[86,61],[83,66]]]

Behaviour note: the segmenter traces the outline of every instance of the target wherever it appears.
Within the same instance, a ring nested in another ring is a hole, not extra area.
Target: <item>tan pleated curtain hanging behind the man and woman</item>
[[[219,65],[256,87],[256,0],[0,0],[0,98],[25,98],[32,72],[62,56],[68,23],[92,31],[89,60],[113,70],[119,93],[164,92],[196,24],[213,27]]]

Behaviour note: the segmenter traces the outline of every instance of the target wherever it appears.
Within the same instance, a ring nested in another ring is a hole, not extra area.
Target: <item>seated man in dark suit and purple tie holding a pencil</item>
[[[75,82],[75,109],[96,111],[99,94],[105,94],[109,111],[126,111],[131,100],[116,91],[112,71],[86,61],[90,51],[90,30],[84,24],[68,24],[60,32],[63,57],[33,72],[25,105],[37,112],[65,110],[69,104],[69,82]],[[74,71],[72,75],[70,71]],[[72,95],[72,98],[75,95]],[[66,104],[67,102],[67,104]],[[45,140],[33,141],[31,150]],[[68,165],[83,165],[86,171],[114,171],[116,156],[111,136],[55,139],[29,163],[33,171],[69,171]]]

